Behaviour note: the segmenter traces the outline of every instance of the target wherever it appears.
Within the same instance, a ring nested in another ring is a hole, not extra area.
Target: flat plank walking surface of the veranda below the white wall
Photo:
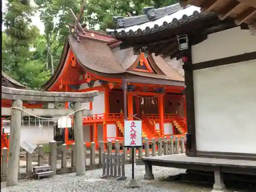
[[[152,161],[152,162],[155,161],[155,162],[162,162],[162,163],[256,168],[256,161],[251,161],[251,160],[216,159],[216,158],[206,158],[206,157],[187,157],[185,154],[144,157],[144,158],[141,158],[141,160]]]

